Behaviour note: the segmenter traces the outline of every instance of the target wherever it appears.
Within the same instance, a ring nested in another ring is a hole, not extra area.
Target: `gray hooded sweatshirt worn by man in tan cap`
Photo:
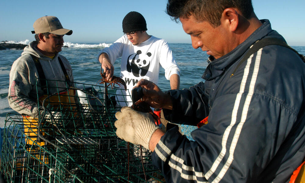
[[[41,113],[38,110],[37,93],[43,93],[40,81],[36,87],[36,78],[39,78],[35,63],[30,54],[38,57],[45,78],[47,80],[65,81],[65,75],[59,64],[58,57],[61,58],[70,81],[73,82],[72,68],[68,60],[58,53],[53,59],[43,55],[37,50],[37,41],[32,41],[24,48],[24,51],[17,60],[14,61],[9,73],[9,106],[16,112],[25,116],[38,118]],[[57,93],[58,88],[66,88],[66,82],[47,82],[49,94]],[[57,88],[56,88],[57,87]],[[37,88],[37,90],[36,90]]]

